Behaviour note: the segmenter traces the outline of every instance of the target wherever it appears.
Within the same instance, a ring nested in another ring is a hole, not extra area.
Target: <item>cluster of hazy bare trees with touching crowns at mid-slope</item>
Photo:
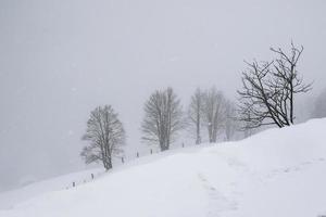
[[[186,129],[200,144],[203,135],[211,143],[217,142],[224,132],[224,139],[230,140],[237,129],[236,106],[215,87],[209,90],[198,88],[190,99],[186,113],[180,100],[172,88],[156,90],[145,104],[145,118],[141,124],[142,140],[158,143],[161,151],[170,149],[178,133]],[[203,133],[205,131],[205,133]]]

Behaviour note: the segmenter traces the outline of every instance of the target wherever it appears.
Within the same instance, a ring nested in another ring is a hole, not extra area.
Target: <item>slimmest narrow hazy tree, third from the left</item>
[[[196,144],[201,143],[201,125],[202,125],[202,111],[203,111],[203,92],[197,88],[190,99],[188,108],[188,116],[190,120],[190,128],[196,132]]]

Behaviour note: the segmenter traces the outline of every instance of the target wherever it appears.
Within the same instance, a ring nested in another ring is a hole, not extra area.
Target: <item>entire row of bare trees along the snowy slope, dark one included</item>
[[[185,129],[200,144],[217,142],[218,138],[231,140],[239,129],[247,137],[265,125],[292,125],[294,97],[312,86],[304,85],[297,69],[303,47],[291,43],[289,53],[280,48],[271,51],[276,54],[274,60],[247,63],[237,105],[215,87],[198,88],[184,112],[173,88],[155,90],[145,103],[142,141],[166,151]],[[85,162],[102,162],[105,169],[112,168],[112,156],[121,153],[125,143],[125,130],[112,106],[99,106],[91,112],[83,139],[90,142],[82,152]]]

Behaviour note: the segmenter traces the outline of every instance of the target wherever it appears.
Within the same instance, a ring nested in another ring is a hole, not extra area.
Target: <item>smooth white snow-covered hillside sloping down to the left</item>
[[[326,119],[314,119],[239,142],[142,157],[76,188],[49,180],[53,187],[28,200],[24,189],[16,190],[24,200],[13,200],[0,217],[326,215],[325,132]]]

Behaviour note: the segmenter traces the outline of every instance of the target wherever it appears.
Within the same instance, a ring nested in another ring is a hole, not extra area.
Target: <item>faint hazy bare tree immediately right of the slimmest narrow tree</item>
[[[204,92],[202,114],[208,128],[209,141],[216,142],[217,133],[224,126],[226,115],[224,94],[215,87]]]

